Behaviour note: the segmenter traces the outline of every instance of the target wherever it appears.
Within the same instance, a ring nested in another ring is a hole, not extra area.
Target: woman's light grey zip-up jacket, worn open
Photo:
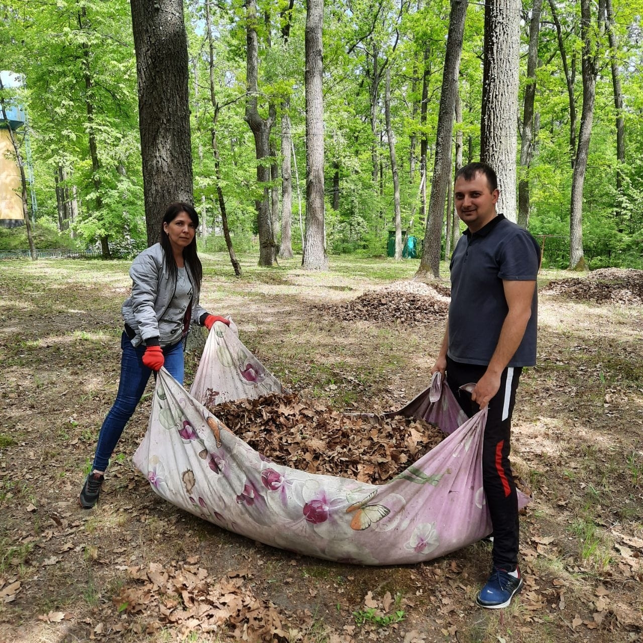
[[[186,311],[186,324],[199,323],[206,312],[199,305],[199,287],[195,283],[188,264],[186,273],[192,284],[192,302]],[[129,269],[132,278],[132,294],[123,303],[123,320],[134,331],[132,345],[158,338],[158,322],[167,311],[176,290],[176,275],[171,275],[165,266],[165,251],[161,244],[150,246],[138,255]],[[128,331],[129,329],[126,329]]]

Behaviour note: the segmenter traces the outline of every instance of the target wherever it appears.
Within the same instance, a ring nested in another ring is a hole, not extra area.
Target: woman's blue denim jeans
[[[118,385],[116,401],[109,413],[105,416],[103,426],[98,434],[96,455],[93,469],[106,471],[112,452],[120,439],[125,424],[132,417],[136,406],[143,397],[145,386],[150,379],[152,369],[143,364],[145,345],[134,348],[127,335],[123,332],[121,337],[121,378]],[[163,347],[165,363],[163,366],[179,384],[183,385],[183,341]]]

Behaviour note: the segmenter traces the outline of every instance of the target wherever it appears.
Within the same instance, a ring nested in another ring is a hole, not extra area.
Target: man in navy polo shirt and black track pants
[[[451,305],[431,372],[446,381],[469,417],[489,406],[482,473],[493,525],[493,572],[476,598],[503,608],[520,591],[518,499],[509,462],[511,415],[522,367],[536,363],[536,239],[496,213],[498,181],[485,163],[455,177],[455,207],[467,225],[451,258]],[[460,386],[475,383],[471,395]]]

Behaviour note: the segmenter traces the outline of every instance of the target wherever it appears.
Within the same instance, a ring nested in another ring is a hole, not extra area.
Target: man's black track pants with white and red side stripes
[[[476,383],[487,367],[447,358],[446,380],[462,410],[472,417],[480,410],[460,386]],[[493,565],[512,571],[518,565],[518,496],[511,475],[511,415],[522,368],[505,368],[498,393],[489,402],[482,446],[482,480],[493,525]]]

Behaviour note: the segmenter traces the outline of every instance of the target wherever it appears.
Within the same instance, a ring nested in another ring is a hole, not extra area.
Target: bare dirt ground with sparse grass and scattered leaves
[[[302,399],[381,411],[426,388],[444,309],[415,314],[423,288],[391,285],[417,262],[338,258],[311,275],[297,260],[271,271],[255,261],[235,280],[223,255],[206,258],[202,303],[231,314],[242,341]],[[422,565],[340,565],[249,541],[161,500],[131,464],[151,386],[100,503],[80,509],[118,385],[128,267],[0,266],[0,641],[643,640],[637,293],[583,296],[576,278],[581,294],[572,295],[545,288],[571,275],[543,275],[538,365],[521,380],[512,445],[534,492],[521,518],[525,587],[510,608],[484,611],[474,598],[489,543]],[[387,312],[396,290],[406,293],[404,314]],[[379,301],[376,314],[347,314],[365,293]],[[186,363],[189,383],[195,356]]]

